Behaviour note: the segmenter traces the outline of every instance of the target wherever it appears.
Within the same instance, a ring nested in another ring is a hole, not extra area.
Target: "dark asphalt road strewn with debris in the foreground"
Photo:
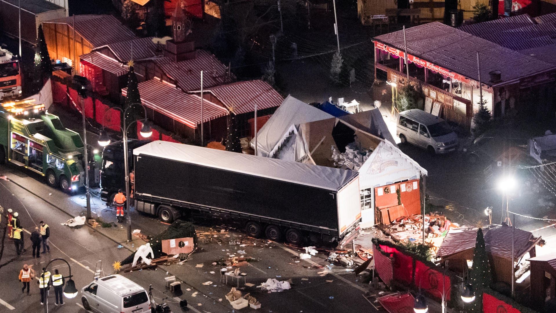
[[[21,282],[17,275],[24,263],[32,265],[35,270],[40,270],[51,258],[61,257],[66,259],[72,269],[72,275],[76,287],[81,289],[93,280],[93,271],[96,262],[102,260],[105,275],[111,273],[112,263],[123,260],[130,254],[126,248],[118,248],[118,243],[90,227],[70,228],[62,226],[72,214],[82,210],[83,195],[77,194],[70,197],[67,194],[52,189],[42,183],[41,177],[34,177],[32,173],[12,165],[0,165],[0,174],[7,175],[13,181],[0,180],[0,203],[4,208],[12,208],[19,212],[22,225],[26,229],[32,229],[40,221],[45,221],[51,227],[51,253],[42,255],[39,259],[31,257],[29,250],[29,235],[25,234],[27,251],[21,257],[16,257],[14,246],[9,239],[0,263],[7,263],[0,268],[0,273],[6,277],[0,292],[0,312],[8,312],[12,307],[14,310],[23,312],[39,312],[44,307],[40,305],[40,294],[36,282],[31,285],[31,295],[21,293]],[[0,176],[1,176],[0,175]],[[17,183],[17,184],[16,184]],[[21,185],[22,187],[19,187]],[[29,190],[29,191],[27,191]],[[35,195],[36,194],[36,195]],[[39,195],[40,197],[38,197]],[[49,203],[45,202],[46,199]],[[93,212],[97,209],[102,211],[103,217],[112,214],[111,210],[103,207],[99,199],[93,198]],[[64,211],[68,211],[68,214]],[[132,212],[133,228],[140,228],[145,234],[160,232],[166,226],[155,218]],[[207,229],[198,226],[197,229]],[[226,228],[228,229],[228,228]],[[101,229],[102,230],[102,229]],[[114,239],[123,238],[121,243],[125,245],[125,228],[110,229]],[[110,234],[110,233],[107,233]],[[349,308],[351,312],[368,312],[374,310],[361,294],[367,290],[366,281],[369,275],[354,275],[346,271],[346,268],[330,265],[325,255],[320,254],[310,260],[300,260],[299,251],[287,247],[284,244],[269,243],[262,239],[245,241],[247,245],[231,246],[228,241],[246,240],[244,234],[230,230],[229,234],[214,238],[210,243],[200,244],[200,251],[193,253],[192,260],[183,265],[158,266],[156,271],[143,270],[125,273],[126,277],[139,283],[145,288],[152,284],[155,288],[153,297],[160,303],[163,299],[170,305],[172,311],[180,311],[178,299],[168,294],[164,286],[163,278],[168,275],[176,275],[182,281],[183,295],[180,299],[186,299],[193,312],[232,312],[233,308],[225,300],[224,296],[230,291],[230,287],[236,282],[231,280],[228,285],[220,281],[219,270],[222,266],[213,265],[213,262],[229,255],[238,255],[238,250],[244,250],[247,256],[257,258],[258,261],[251,262],[249,266],[241,267],[241,271],[247,273],[246,282],[254,286],[246,287],[242,291],[251,292],[262,304],[262,309],[268,312],[337,312]],[[138,243],[135,242],[135,247]],[[255,244],[253,244],[255,243]],[[140,244],[140,243],[139,243]],[[133,248],[133,247],[130,247]],[[202,267],[200,266],[202,265]],[[312,266],[315,265],[315,266]],[[330,268],[326,267],[329,266]],[[63,262],[56,262],[49,266],[67,275],[67,266]],[[323,272],[324,271],[324,272]],[[168,274],[167,274],[168,272]],[[214,272],[214,273],[212,273]],[[257,288],[267,278],[277,280],[292,280],[292,289],[285,292],[267,293]],[[203,285],[212,281],[209,285]],[[195,294],[195,292],[198,292]],[[219,301],[222,299],[222,301]],[[80,307],[80,299],[66,299],[66,305],[56,307],[53,304],[54,295],[49,296],[49,310],[56,312],[85,312]],[[196,311],[195,311],[196,310]],[[243,309],[249,311],[252,309]]]

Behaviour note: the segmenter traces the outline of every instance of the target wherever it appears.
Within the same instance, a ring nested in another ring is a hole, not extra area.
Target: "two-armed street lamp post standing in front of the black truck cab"
[[[126,113],[127,110],[132,107],[133,105],[141,105],[141,107],[143,108],[143,110],[145,111],[145,119],[143,119],[143,126],[141,127],[141,136],[143,136],[144,138],[148,138],[152,135],[152,130],[151,127],[147,125],[146,121],[147,121],[147,109],[145,108],[145,106],[143,106],[140,103],[133,103],[131,105],[129,105],[128,107],[126,107],[125,110],[121,109],[120,107],[117,106],[113,106],[110,109],[116,109],[116,110],[120,110],[123,114],[123,128],[118,124],[118,127],[120,127],[120,129],[122,130],[123,133],[123,167],[125,168],[125,175],[126,175],[126,196],[130,197],[130,168],[128,166],[128,156],[127,156],[127,131],[129,130],[130,126],[133,123],[136,123],[140,120],[135,120],[132,121],[130,123],[130,125],[126,124]],[[108,113],[108,111],[110,110],[106,110],[105,112],[105,116],[106,117],[106,113]],[[104,118],[102,119],[104,120]],[[106,133],[106,131],[102,131],[100,138],[98,139],[98,144],[101,146],[107,146],[108,144],[110,144],[110,137],[108,136],[108,134]],[[130,212],[130,199],[126,199],[126,211],[127,211],[127,218],[126,218],[126,222],[127,222],[127,241],[131,241],[131,212]]]

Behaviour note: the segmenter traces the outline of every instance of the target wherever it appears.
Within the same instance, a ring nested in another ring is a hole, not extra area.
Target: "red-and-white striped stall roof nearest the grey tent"
[[[262,80],[232,82],[207,88],[206,91],[212,92],[226,107],[233,106],[236,114],[254,111],[255,104],[257,104],[257,110],[262,110],[280,106],[284,101],[284,98],[272,86]],[[201,91],[193,92],[200,93]]]

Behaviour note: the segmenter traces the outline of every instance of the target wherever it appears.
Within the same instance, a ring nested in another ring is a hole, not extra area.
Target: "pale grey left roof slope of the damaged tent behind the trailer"
[[[288,95],[271,118],[257,131],[257,146],[266,155],[284,137],[291,125],[330,119],[334,116]],[[251,140],[254,146],[255,140]]]

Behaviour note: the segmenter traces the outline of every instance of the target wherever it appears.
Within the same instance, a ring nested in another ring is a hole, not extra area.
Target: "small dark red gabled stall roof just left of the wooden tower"
[[[123,42],[109,43],[102,47],[108,47],[114,55],[116,55],[118,61],[127,62],[132,60],[132,58],[138,61],[156,56],[156,43],[152,42],[152,38],[153,37],[138,38]],[[132,51],[133,57],[131,56]]]

